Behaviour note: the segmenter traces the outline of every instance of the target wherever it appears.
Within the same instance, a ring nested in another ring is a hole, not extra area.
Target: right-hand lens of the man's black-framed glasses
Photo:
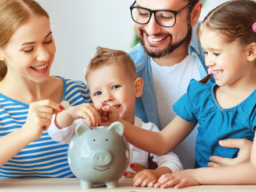
[[[175,15],[168,11],[159,11],[156,13],[158,22],[165,27],[172,27],[175,24]]]

